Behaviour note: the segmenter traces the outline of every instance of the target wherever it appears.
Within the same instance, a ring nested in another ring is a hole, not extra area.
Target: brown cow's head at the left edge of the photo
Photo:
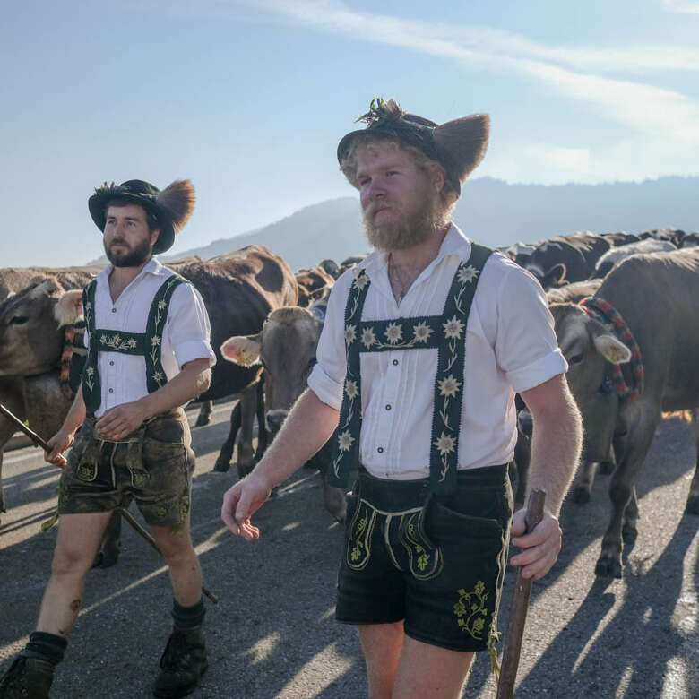
[[[51,278],[36,280],[0,304],[0,375],[31,376],[56,367],[66,319],[80,315],[75,294],[58,305],[65,291]],[[80,302],[82,307],[82,301]]]

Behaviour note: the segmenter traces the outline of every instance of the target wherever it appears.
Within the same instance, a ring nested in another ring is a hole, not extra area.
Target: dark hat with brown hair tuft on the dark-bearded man
[[[142,179],[130,179],[121,185],[105,182],[88,200],[92,220],[101,231],[107,222],[107,205],[112,200],[139,204],[155,217],[160,236],[153,253],[164,253],[172,247],[175,234],[184,228],[194,210],[194,186],[188,179],[177,179],[163,190]]]

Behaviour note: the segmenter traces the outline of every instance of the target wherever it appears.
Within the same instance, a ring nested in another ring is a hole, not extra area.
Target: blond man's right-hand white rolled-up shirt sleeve
[[[496,357],[513,390],[521,393],[564,374],[568,365],[558,349],[553,316],[539,282],[512,267],[498,299]]]

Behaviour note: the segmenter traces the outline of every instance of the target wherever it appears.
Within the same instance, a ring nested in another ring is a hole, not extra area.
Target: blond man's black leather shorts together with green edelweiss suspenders
[[[404,618],[406,633],[420,641],[464,652],[489,647],[494,653],[512,514],[507,468],[457,468],[465,333],[490,254],[471,247],[469,260],[453,275],[441,315],[362,320],[371,280],[359,272],[345,307],[347,375],[327,478],[344,486],[358,465],[360,353],[437,350],[429,478],[374,479],[360,469],[336,617],[354,624]]]

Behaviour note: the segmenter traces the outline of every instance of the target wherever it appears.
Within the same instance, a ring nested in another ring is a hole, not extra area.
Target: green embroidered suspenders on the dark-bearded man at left
[[[95,289],[97,280],[92,280],[82,289],[82,308],[85,324],[90,336],[90,347],[85,367],[82,369],[82,397],[88,415],[99,409],[102,401],[99,384],[97,358],[99,352],[121,352],[143,357],[146,365],[148,393],[157,391],[168,381],[160,361],[160,343],[172,294],[177,286],[188,283],[178,274],[168,277],[155,294],[148,313],[145,332],[122,332],[95,328]]]

